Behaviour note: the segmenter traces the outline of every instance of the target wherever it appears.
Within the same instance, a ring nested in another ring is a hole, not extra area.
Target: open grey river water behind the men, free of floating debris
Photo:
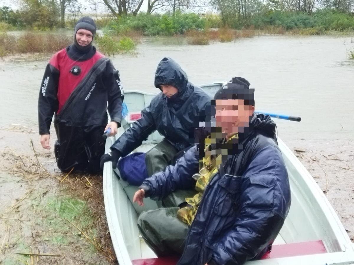
[[[255,88],[256,110],[300,116],[276,120],[283,140],[353,139],[353,38],[332,36],[256,36],[207,46],[161,45],[144,39],[137,55],[110,57],[125,90],[159,92],[154,73],[169,56],[204,84],[242,76]],[[37,99],[49,59],[0,61],[0,124],[36,128]]]

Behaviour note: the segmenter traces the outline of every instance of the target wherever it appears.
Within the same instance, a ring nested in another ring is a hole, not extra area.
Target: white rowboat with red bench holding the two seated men
[[[205,85],[204,89],[209,89],[209,93],[213,94],[220,86],[221,83],[209,84]],[[118,134],[107,139],[106,152],[109,152],[109,147],[118,139],[119,135],[128,129],[134,120],[139,118],[140,111],[148,106],[153,96],[154,94],[138,91],[125,93],[124,102],[129,113]],[[162,139],[163,137],[155,132],[134,152],[147,152]],[[251,261],[250,264],[278,264],[277,262],[267,263],[266,261],[282,260],[281,258],[286,257],[303,257],[304,255],[319,257],[319,254],[353,251],[353,245],[350,243],[343,225],[322,190],[291,150],[280,138],[278,139],[289,174],[291,207],[280,234],[273,243],[272,251],[266,253],[261,261]],[[118,169],[113,171],[110,163],[106,163],[104,170],[104,176],[106,176],[104,179],[106,213],[119,264],[129,264],[129,262],[125,263],[127,259],[135,265],[176,264],[178,257],[157,258],[145,244],[138,231],[137,218],[139,214],[143,211],[161,207],[161,204],[145,198],[145,205],[143,207],[138,206],[132,202],[133,195],[138,188],[123,181],[119,177]],[[353,259],[353,256],[351,256],[350,260]]]

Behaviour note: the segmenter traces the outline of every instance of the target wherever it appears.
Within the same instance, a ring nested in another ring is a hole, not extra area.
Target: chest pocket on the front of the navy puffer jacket
[[[218,182],[218,196],[214,213],[218,216],[231,216],[239,207],[242,177],[225,174]]]

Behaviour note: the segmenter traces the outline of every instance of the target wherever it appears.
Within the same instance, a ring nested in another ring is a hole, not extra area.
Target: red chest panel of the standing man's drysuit
[[[56,53],[49,61],[56,69],[59,70],[59,83],[58,83],[58,101],[59,107],[57,113],[59,113],[64,106],[65,102],[78,86],[82,79],[85,78],[92,66],[101,59],[103,54],[96,51],[92,58],[86,61],[75,61],[70,59],[66,49],[62,49]],[[81,72],[79,75],[74,75],[70,72],[73,66],[79,66]]]

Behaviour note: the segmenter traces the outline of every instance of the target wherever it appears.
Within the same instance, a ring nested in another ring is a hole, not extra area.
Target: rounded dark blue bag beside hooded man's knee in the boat
[[[120,176],[130,185],[140,186],[148,177],[145,164],[146,153],[133,153],[118,161]]]

